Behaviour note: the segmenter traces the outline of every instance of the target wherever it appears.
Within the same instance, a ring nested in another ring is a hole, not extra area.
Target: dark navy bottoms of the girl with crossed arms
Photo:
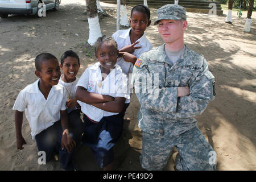
[[[92,122],[84,114],[84,125],[84,144],[92,149],[98,166],[108,166],[114,160],[113,147],[121,137],[123,118],[117,114],[103,117],[100,122]]]

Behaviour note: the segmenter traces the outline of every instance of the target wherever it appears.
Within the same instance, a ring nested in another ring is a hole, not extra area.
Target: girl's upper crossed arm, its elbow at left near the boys
[[[76,98],[77,100],[85,102],[86,104],[114,101],[114,97],[88,92],[82,86],[77,86]]]

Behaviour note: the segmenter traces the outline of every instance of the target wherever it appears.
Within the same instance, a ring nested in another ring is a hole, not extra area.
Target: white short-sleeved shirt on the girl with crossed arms
[[[112,97],[124,97],[130,101],[130,94],[128,93],[127,88],[127,77],[122,73],[122,69],[118,65],[115,65],[115,68],[112,69],[104,81],[102,81],[100,63],[91,65],[85,69],[84,73],[82,73],[82,76],[77,82],[76,88],[77,86],[84,87],[88,92],[99,93]],[[77,102],[81,106],[81,111],[88,115],[90,119],[97,122],[103,117],[118,114],[98,109],[97,107],[81,101]]]

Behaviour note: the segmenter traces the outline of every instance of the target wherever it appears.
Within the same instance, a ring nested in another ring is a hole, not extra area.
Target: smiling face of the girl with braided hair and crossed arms
[[[118,50],[110,42],[103,42],[97,50],[95,55],[101,64],[101,67],[110,71],[114,68],[115,63],[117,63]]]

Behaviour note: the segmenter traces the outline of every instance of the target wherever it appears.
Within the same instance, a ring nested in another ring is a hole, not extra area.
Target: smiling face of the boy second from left
[[[79,71],[80,65],[75,57],[68,56],[64,59],[63,64],[60,64],[60,68],[63,70],[63,74],[67,80],[74,80]]]

